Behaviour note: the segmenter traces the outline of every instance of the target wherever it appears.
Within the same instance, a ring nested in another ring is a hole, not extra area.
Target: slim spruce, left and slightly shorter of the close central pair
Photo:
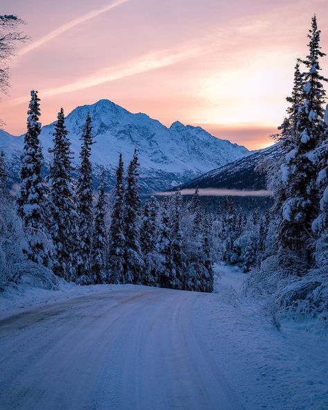
[[[125,231],[124,231],[124,165],[122,154],[116,169],[116,185],[114,190],[113,212],[111,214],[109,244],[109,282],[125,283]]]

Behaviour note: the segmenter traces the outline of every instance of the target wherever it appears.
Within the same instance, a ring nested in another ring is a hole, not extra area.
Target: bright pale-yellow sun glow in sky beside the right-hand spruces
[[[198,121],[238,125],[258,118],[262,125],[275,124],[284,115],[284,95],[291,82],[288,73],[277,69],[277,61],[278,53],[265,60],[258,56],[251,64],[201,80],[199,95],[208,100],[208,107],[198,113]]]

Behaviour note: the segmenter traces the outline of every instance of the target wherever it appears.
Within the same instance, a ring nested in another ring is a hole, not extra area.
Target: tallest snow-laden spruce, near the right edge
[[[318,186],[316,183],[316,150],[323,139],[323,107],[325,89],[320,75],[320,30],[316,16],[309,30],[309,55],[302,63],[307,71],[304,80],[304,101],[298,111],[295,148],[286,154],[286,200],[282,204],[282,226],[278,232],[280,247],[285,257],[280,258],[282,267],[305,274],[313,264],[313,238],[311,224],[318,215]]]

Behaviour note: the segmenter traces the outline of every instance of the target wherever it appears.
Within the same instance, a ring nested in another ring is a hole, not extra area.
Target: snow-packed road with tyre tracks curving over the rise
[[[243,409],[200,339],[215,297],[109,290],[3,319],[1,410]]]

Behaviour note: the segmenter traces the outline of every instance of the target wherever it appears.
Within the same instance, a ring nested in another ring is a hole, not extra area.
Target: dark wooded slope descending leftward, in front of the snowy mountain
[[[266,175],[257,170],[257,166],[268,159],[279,156],[278,145],[271,145],[264,150],[258,150],[247,157],[227,163],[206,174],[197,177],[181,188],[227,188],[242,190],[266,189]]]

